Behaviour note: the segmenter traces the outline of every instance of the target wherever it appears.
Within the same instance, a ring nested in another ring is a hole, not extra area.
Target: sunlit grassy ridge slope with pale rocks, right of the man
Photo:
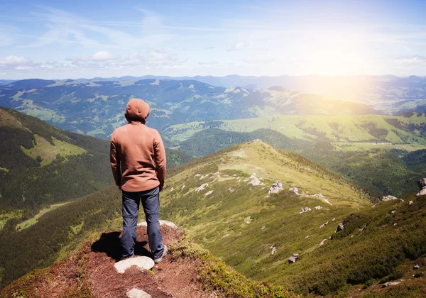
[[[339,175],[261,141],[233,146],[178,170],[163,194],[163,216],[187,228],[227,264],[258,280],[270,280],[292,253],[315,250],[345,216],[371,205]],[[212,175],[217,171],[220,177]],[[265,185],[244,181],[253,172]],[[210,175],[200,180],[197,174]],[[283,182],[285,190],[266,198],[275,180]],[[209,185],[196,192],[204,183]],[[322,193],[332,205],[288,192],[293,186],[308,194]],[[213,192],[205,195],[209,191]],[[323,209],[315,210],[318,205]],[[313,211],[299,215],[305,206]],[[329,225],[320,228],[327,221]],[[271,245],[278,249],[275,255]]]

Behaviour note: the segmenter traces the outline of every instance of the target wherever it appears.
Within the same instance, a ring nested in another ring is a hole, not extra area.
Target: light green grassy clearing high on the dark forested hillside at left
[[[21,146],[21,149],[24,153],[26,153],[26,155],[35,160],[38,156],[40,156],[40,165],[42,166],[50,164],[50,162],[56,159],[58,154],[66,158],[70,155],[79,155],[87,152],[87,150],[84,150],[77,145],[72,145],[71,143],[58,140],[55,137],[52,137],[54,145],[50,144],[48,140],[45,140],[45,138],[42,138],[41,136],[35,135],[34,137],[35,145],[32,148],[26,149]]]

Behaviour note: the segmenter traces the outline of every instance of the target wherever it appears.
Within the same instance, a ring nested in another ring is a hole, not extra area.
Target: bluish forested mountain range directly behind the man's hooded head
[[[214,87],[195,80],[79,82],[25,79],[0,87],[0,105],[53,123],[67,131],[109,138],[125,123],[132,97],[151,105],[150,126],[163,130],[190,121],[256,118],[282,114],[356,115],[377,113],[371,106],[283,87]]]

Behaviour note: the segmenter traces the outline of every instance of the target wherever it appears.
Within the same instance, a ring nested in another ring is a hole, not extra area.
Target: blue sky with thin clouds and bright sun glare
[[[0,0],[0,79],[426,76],[426,1]]]

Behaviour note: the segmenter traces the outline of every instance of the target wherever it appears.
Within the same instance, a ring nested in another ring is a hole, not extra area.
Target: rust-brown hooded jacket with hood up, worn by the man
[[[116,184],[125,192],[143,192],[165,180],[165,149],[160,134],[145,125],[150,107],[131,99],[126,107],[127,123],[111,136],[111,169]]]

